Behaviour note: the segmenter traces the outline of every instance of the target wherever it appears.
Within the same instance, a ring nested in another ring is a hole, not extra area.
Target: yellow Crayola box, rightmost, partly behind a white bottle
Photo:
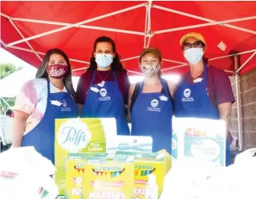
[[[116,152],[116,156],[134,156],[134,199],[145,198],[145,188],[148,183],[148,175],[156,175],[158,196],[160,197],[165,178],[165,155],[155,152]]]

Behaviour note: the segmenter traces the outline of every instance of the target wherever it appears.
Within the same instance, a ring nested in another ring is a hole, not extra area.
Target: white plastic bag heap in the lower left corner
[[[35,148],[10,148],[0,153],[0,198],[55,199],[54,173],[55,166]]]

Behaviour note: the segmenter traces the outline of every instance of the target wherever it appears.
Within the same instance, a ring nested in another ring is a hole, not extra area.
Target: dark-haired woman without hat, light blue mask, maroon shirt
[[[114,117],[117,134],[130,135],[125,117],[129,85],[114,41],[104,36],[96,39],[90,67],[77,86],[80,117]]]

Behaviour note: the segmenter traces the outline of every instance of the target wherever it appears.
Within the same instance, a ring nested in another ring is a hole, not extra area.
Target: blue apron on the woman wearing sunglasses
[[[196,117],[219,120],[220,115],[206,92],[207,65],[201,82],[181,83],[174,95],[176,117]],[[226,140],[226,165],[230,165],[230,141]]]

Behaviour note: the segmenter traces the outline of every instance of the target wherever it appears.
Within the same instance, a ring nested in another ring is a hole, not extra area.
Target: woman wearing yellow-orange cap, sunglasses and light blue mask
[[[206,43],[201,34],[189,33],[181,38],[180,44],[190,70],[174,95],[175,116],[226,120],[226,165],[229,165],[232,142],[229,124],[234,103],[230,79],[225,71],[204,62]]]

